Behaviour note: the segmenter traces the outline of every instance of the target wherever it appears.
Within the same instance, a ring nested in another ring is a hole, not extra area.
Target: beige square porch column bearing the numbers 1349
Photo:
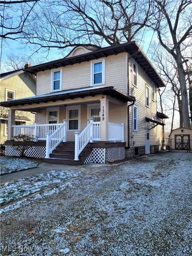
[[[109,114],[109,100],[100,99],[101,102],[101,141],[108,141],[108,114]]]

